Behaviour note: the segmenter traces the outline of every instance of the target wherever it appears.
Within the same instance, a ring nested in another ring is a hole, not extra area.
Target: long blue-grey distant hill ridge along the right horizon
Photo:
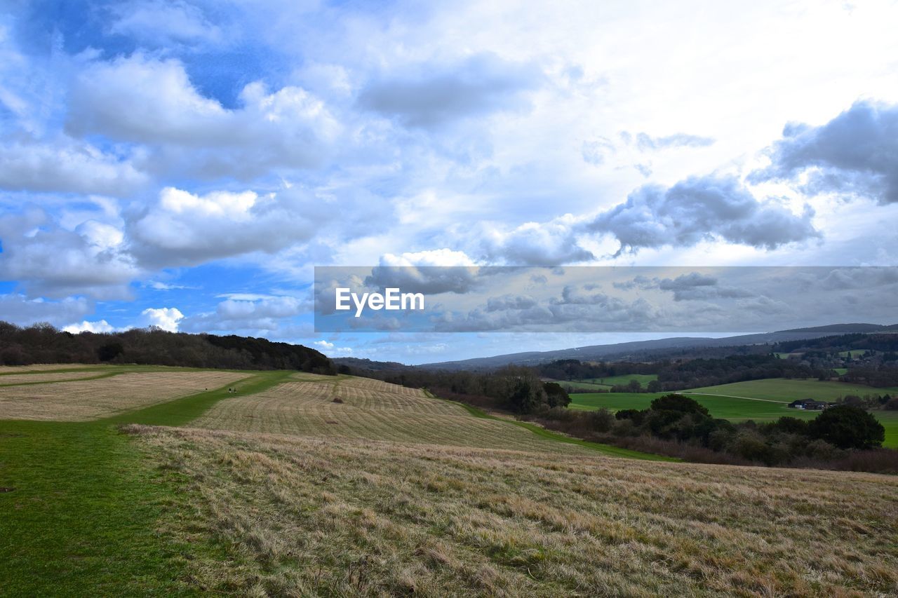
[[[682,352],[683,349],[695,349],[700,347],[753,346],[779,343],[787,340],[818,339],[839,334],[870,334],[873,332],[898,332],[898,324],[889,326],[864,323],[831,324],[829,326],[816,326],[813,328],[797,328],[791,330],[778,330],[775,332],[762,332],[758,334],[744,334],[722,339],[674,337],[670,339],[637,340],[610,345],[572,347],[555,351],[526,351],[523,353],[509,353],[491,357],[475,357],[459,361],[422,364],[418,367],[422,369],[443,370],[487,370],[509,364],[537,365],[556,359],[600,361],[608,359],[627,359],[639,356],[645,357],[648,354],[663,356],[663,354],[668,351]]]

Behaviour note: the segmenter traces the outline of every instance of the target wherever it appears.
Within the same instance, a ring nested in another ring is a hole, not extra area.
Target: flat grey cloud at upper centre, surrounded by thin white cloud
[[[539,84],[541,73],[529,65],[479,54],[460,64],[388,76],[359,94],[365,110],[399,119],[408,127],[431,128],[495,110],[523,105],[521,92]]]

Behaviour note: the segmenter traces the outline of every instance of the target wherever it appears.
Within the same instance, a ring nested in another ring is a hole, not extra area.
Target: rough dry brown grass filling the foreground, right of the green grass
[[[244,595],[895,595],[898,479],[130,427]]]

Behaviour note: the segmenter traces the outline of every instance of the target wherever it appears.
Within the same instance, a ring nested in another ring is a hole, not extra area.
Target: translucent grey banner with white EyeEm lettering
[[[319,332],[732,332],[898,322],[898,267],[318,267]]]

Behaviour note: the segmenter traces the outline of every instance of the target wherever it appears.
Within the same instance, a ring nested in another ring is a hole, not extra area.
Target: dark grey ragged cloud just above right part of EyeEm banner
[[[810,207],[797,216],[774,203],[762,203],[735,177],[706,176],[682,180],[668,189],[641,187],[585,227],[614,235],[621,242],[619,255],[715,238],[775,249],[819,237],[811,223],[813,215]]]

